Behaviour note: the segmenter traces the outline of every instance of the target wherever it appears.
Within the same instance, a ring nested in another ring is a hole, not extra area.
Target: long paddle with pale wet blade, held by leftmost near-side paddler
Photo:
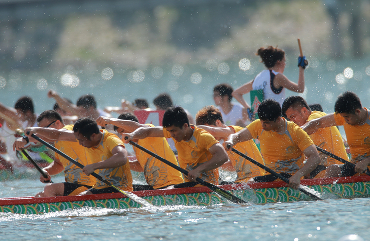
[[[27,135],[29,135],[29,133],[27,133]],[[69,157],[68,155],[66,155],[64,152],[58,150],[57,148],[55,148],[54,146],[50,145],[49,143],[47,143],[46,141],[44,141],[43,139],[37,137],[36,135],[32,134],[31,137],[33,137],[34,139],[38,140],[39,142],[41,142],[42,144],[44,144],[45,146],[47,146],[48,148],[50,148],[51,150],[55,151],[56,153],[58,153],[59,155],[61,155],[62,157],[66,158],[68,161],[70,161],[71,163],[73,163],[74,165],[76,165],[77,167],[83,169],[85,166],[82,165],[81,163],[78,163],[76,162],[75,160],[73,160],[73,158]],[[143,206],[146,206],[146,207],[152,207],[152,205],[146,201],[145,199],[142,199],[138,196],[136,196],[134,193],[131,193],[131,192],[127,192],[127,191],[123,191],[121,189],[119,189],[118,187],[112,185],[110,182],[104,180],[100,175],[98,175],[97,173],[93,172],[91,173],[91,175],[93,175],[95,178],[97,178],[98,180],[101,180],[102,182],[104,182],[105,184],[113,187],[114,189],[116,189],[118,192],[124,194],[126,197],[130,198],[131,200],[133,200],[134,202],[138,203],[138,204],[141,204]]]

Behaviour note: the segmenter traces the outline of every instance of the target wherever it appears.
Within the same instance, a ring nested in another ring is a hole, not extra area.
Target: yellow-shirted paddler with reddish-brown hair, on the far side
[[[224,123],[222,114],[218,108],[213,105],[203,107],[195,116],[197,126],[212,134],[217,140],[226,140],[231,134],[241,131],[240,126],[227,126]],[[265,165],[261,153],[253,140],[237,143],[235,148],[257,162]],[[221,182],[221,184],[232,184],[238,182],[247,182],[250,178],[261,176],[265,171],[232,151],[228,151],[228,156],[232,166],[236,171],[234,182]]]

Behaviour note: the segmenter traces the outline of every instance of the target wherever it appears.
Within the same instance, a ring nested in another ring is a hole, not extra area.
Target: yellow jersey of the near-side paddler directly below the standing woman
[[[268,168],[294,174],[303,166],[303,151],[313,145],[313,141],[298,125],[286,119],[284,122],[284,133],[264,131],[260,119],[249,124],[247,129],[253,138],[259,138],[261,154]]]

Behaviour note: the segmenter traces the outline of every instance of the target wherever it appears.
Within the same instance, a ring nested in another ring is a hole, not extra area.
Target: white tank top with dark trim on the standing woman
[[[276,89],[273,86],[273,79],[276,74],[278,72],[265,69],[254,78],[252,88],[253,90],[264,90],[264,99],[273,99],[281,106],[285,100],[285,88]]]

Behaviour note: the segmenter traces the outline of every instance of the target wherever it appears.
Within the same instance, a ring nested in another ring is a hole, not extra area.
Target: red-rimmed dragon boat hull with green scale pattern
[[[305,179],[301,182],[321,194],[323,199],[370,197],[370,176]],[[244,201],[254,204],[310,201],[299,190],[290,189],[282,181],[220,185]],[[154,206],[184,205],[209,206],[229,203],[206,187],[177,188],[133,192]],[[320,201],[318,201],[320,202]],[[82,207],[128,209],[139,208],[121,193],[49,198],[15,197],[1,198],[0,212],[19,214],[43,214]]]

